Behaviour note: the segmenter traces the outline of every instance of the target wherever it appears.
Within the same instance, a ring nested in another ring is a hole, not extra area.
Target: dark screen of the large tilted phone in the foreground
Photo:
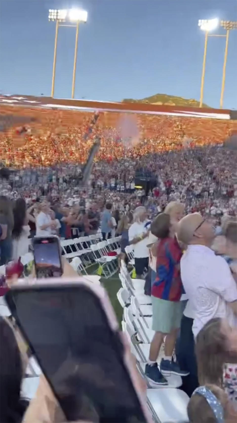
[[[67,420],[146,422],[119,333],[90,289],[13,289],[6,300]]]

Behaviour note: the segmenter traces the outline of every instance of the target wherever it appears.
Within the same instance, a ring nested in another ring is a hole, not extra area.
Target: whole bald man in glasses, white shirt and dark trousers
[[[198,386],[195,338],[213,317],[227,318],[231,326],[236,325],[237,286],[226,261],[211,250],[215,237],[212,220],[203,219],[199,213],[188,214],[180,220],[177,236],[187,245],[180,269],[188,301],[176,356],[181,370],[189,371],[182,389],[191,396]]]

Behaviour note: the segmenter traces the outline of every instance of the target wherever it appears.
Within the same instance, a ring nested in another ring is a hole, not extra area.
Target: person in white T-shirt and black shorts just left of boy
[[[148,223],[146,217],[146,208],[137,207],[133,214],[133,223],[128,230],[130,245],[134,246],[135,271],[138,278],[141,278],[145,269],[148,270],[149,250],[146,238],[149,230],[146,227]]]

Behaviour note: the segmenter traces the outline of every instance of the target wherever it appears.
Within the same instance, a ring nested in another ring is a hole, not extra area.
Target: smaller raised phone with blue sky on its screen
[[[57,236],[33,238],[33,250],[38,278],[62,275],[61,250]]]

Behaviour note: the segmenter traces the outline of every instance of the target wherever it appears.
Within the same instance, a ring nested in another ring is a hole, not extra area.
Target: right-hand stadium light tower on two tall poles
[[[207,38],[208,37],[225,37],[226,38],[226,49],[225,49],[225,57],[224,57],[224,64],[223,64],[223,75],[222,75],[222,85],[221,85],[221,94],[220,94],[220,108],[222,109],[225,80],[226,80],[226,60],[227,60],[227,53],[228,53],[229,30],[230,29],[236,29],[237,28],[237,22],[219,21],[218,18],[215,18],[215,19],[199,19],[198,26],[201,28],[201,30],[205,31],[205,44],[204,44],[204,55],[203,55],[202,74],[201,74],[201,94],[200,94],[199,107],[202,107],[202,104],[203,104],[203,88],[204,88],[204,78],[205,78],[205,69],[206,69],[206,58],[207,58]],[[215,30],[219,26],[223,27],[226,30],[226,35],[209,34],[210,31]]]

